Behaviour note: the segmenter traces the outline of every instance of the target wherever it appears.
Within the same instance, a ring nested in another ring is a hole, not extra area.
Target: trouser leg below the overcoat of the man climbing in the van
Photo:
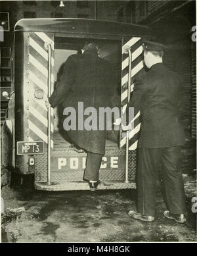
[[[87,152],[86,167],[83,178],[85,180],[99,180],[99,169],[103,155]]]

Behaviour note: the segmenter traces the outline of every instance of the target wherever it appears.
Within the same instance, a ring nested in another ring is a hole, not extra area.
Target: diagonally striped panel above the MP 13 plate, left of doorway
[[[29,141],[42,140],[46,144],[48,131],[47,107],[45,98],[48,97],[48,52],[46,43],[53,43],[53,34],[36,32],[30,33],[28,80],[30,85],[28,136]],[[51,91],[54,81],[54,50],[51,57]],[[42,90],[43,99],[36,99],[35,91]],[[51,147],[53,147],[53,109],[51,109]]]

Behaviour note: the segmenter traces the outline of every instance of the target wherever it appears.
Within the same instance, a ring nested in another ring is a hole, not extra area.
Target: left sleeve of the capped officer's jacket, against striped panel
[[[142,105],[144,102],[144,99],[147,94],[147,86],[145,84],[144,78],[139,77],[135,80],[133,93],[131,95],[131,100],[129,101],[129,104],[127,105],[127,113],[129,113],[129,107],[134,108],[134,116],[139,113],[142,109]],[[129,121],[129,116],[127,115],[127,123]]]

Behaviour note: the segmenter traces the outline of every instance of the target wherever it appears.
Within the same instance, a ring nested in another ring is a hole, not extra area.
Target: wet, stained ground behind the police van
[[[147,223],[127,215],[135,209],[135,190],[39,192],[4,186],[2,242],[194,242],[196,214],[191,211],[191,199],[196,196],[196,176],[184,176],[185,224],[163,217],[160,190],[156,220]]]

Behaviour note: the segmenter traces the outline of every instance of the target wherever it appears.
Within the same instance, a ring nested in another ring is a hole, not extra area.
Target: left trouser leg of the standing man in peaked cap
[[[137,213],[154,216],[161,149],[141,148],[137,163]]]

